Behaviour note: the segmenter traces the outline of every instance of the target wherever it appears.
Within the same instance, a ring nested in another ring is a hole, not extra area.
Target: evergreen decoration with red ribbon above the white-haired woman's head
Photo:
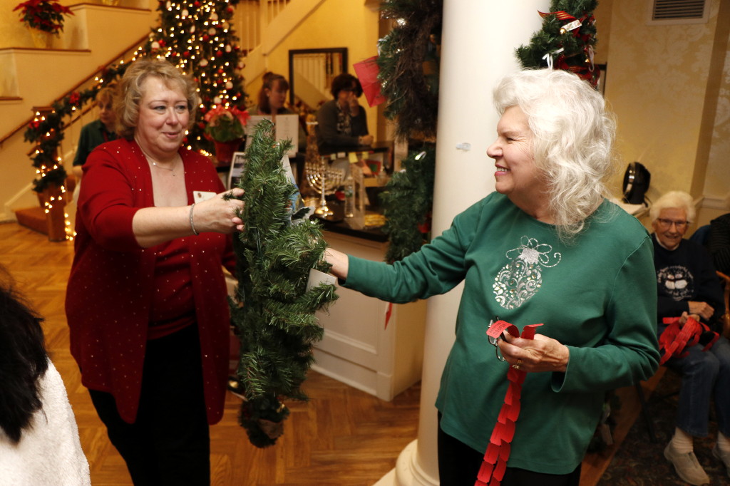
[[[593,69],[593,10],[597,6],[597,0],[553,0],[550,12],[540,12],[542,30],[532,36],[530,45],[517,49],[522,66],[574,72],[595,87],[599,71]]]

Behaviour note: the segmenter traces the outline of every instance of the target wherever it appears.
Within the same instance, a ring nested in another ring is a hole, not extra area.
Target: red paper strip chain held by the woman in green
[[[523,339],[534,339],[535,329],[542,324],[526,325],[522,330],[522,336],[515,325],[498,320],[487,330],[487,335],[493,339],[502,336],[505,330],[515,337]],[[522,382],[525,381],[525,371],[512,368],[507,369],[507,380],[510,385],[507,387],[507,394],[504,396],[504,404],[499,410],[497,423],[494,425],[489,445],[484,453],[482,467],[479,468],[475,486],[499,486],[507,469],[507,459],[510,458],[510,443],[515,436],[515,422],[520,416],[520,394],[522,393]]]

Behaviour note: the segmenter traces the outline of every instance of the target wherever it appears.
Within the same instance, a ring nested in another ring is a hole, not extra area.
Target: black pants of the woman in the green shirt
[[[474,486],[484,454],[442,431],[440,423],[439,412],[438,453],[441,486]],[[579,484],[580,464],[569,474],[545,474],[508,467],[500,482],[500,486],[578,486]]]

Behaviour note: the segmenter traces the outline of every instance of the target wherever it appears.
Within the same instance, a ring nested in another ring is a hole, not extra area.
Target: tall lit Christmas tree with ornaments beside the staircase
[[[203,134],[205,113],[218,106],[245,109],[238,38],[231,26],[238,0],[167,0],[158,3],[160,26],[153,28],[145,52],[164,57],[199,85],[201,106],[187,144],[212,153]]]

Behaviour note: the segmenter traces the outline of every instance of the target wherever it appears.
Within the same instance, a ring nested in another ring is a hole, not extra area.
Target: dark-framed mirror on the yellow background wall
[[[317,111],[332,98],[332,79],[343,72],[347,72],[347,47],[290,50],[290,104],[301,101],[308,112]]]

